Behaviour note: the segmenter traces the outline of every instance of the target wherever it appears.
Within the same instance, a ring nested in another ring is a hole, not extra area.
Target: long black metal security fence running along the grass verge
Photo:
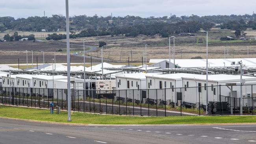
[[[71,110],[80,112],[137,116],[256,113],[256,85],[70,91]],[[4,105],[49,109],[50,102],[67,110],[67,89],[0,87]]]

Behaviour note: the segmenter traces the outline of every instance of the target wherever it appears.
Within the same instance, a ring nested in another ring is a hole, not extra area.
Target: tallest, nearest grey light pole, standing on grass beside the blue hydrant
[[[66,0],[66,31],[67,31],[67,98],[68,98],[68,122],[71,121],[70,103],[70,51],[69,51],[69,0]]]

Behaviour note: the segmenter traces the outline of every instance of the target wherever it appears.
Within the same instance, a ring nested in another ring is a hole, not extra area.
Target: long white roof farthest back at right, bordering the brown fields
[[[159,63],[161,61],[169,61],[169,59],[150,59],[149,63]],[[209,67],[231,67],[232,62],[243,62],[245,66],[256,66],[256,58],[236,58],[236,59],[208,59]],[[171,63],[173,59],[171,59]],[[175,65],[182,68],[198,68],[206,67],[206,59],[175,59]]]

